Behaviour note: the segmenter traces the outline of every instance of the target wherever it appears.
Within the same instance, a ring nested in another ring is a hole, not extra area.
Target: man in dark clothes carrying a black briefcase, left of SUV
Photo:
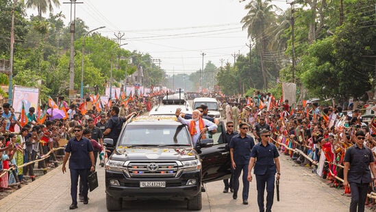
[[[82,195],[84,204],[88,204],[88,174],[95,171],[94,154],[90,140],[82,137],[82,126],[77,125],[73,129],[75,137],[69,140],[65,148],[64,162],[62,165],[63,174],[66,172],[66,161],[69,158],[69,169],[71,172],[71,196],[72,204],[69,209],[77,209],[77,184],[78,177],[83,186]]]

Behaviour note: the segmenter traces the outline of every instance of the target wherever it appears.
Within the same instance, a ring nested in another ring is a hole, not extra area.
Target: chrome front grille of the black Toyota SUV
[[[177,174],[177,163],[175,162],[130,162],[127,165],[131,178],[142,177],[175,177]]]

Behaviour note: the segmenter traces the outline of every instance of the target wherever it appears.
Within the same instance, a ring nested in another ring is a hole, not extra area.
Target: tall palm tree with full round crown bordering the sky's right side
[[[248,36],[256,41],[256,46],[260,51],[262,78],[266,91],[268,90],[267,70],[264,64],[264,52],[268,47],[267,31],[271,31],[274,27],[276,14],[274,8],[277,6],[270,4],[271,0],[256,0],[251,1],[245,5],[245,9],[249,10],[247,15],[242,18],[241,23],[244,23],[243,30],[247,29]]]

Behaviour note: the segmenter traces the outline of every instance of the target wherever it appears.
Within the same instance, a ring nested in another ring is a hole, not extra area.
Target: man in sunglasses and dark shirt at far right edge
[[[376,176],[375,159],[371,149],[364,145],[365,136],[362,130],[356,131],[355,145],[344,154],[343,185],[351,189],[350,212],[364,211],[371,171]],[[376,178],[373,181],[376,183]]]

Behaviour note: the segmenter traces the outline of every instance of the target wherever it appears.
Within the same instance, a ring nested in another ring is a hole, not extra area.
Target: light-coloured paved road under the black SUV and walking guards
[[[350,198],[341,196],[343,190],[330,188],[325,184],[325,180],[312,174],[307,167],[295,165],[288,156],[281,155],[280,161],[281,201],[275,200],[273,211],[348,211]],[[106,211],[104,168],[97,167],[97,172],[99,187],[89,193],[89,204],[79,202],[76,211]],[[231,193],[222,193],[221,181],[210,182],[205,187],[202,211],[258,211],[255,182],[251,182],[249,205],[243,205],[241,198],[233,200]],[[241,194],[238,193],[238,196],[241,197]],[[0,211],[69,211],[70,204],[69,174],[62,174],[60,166],[0,200]],[[123,202],[123,211],[157,210],[186,211],[186,202]]]

